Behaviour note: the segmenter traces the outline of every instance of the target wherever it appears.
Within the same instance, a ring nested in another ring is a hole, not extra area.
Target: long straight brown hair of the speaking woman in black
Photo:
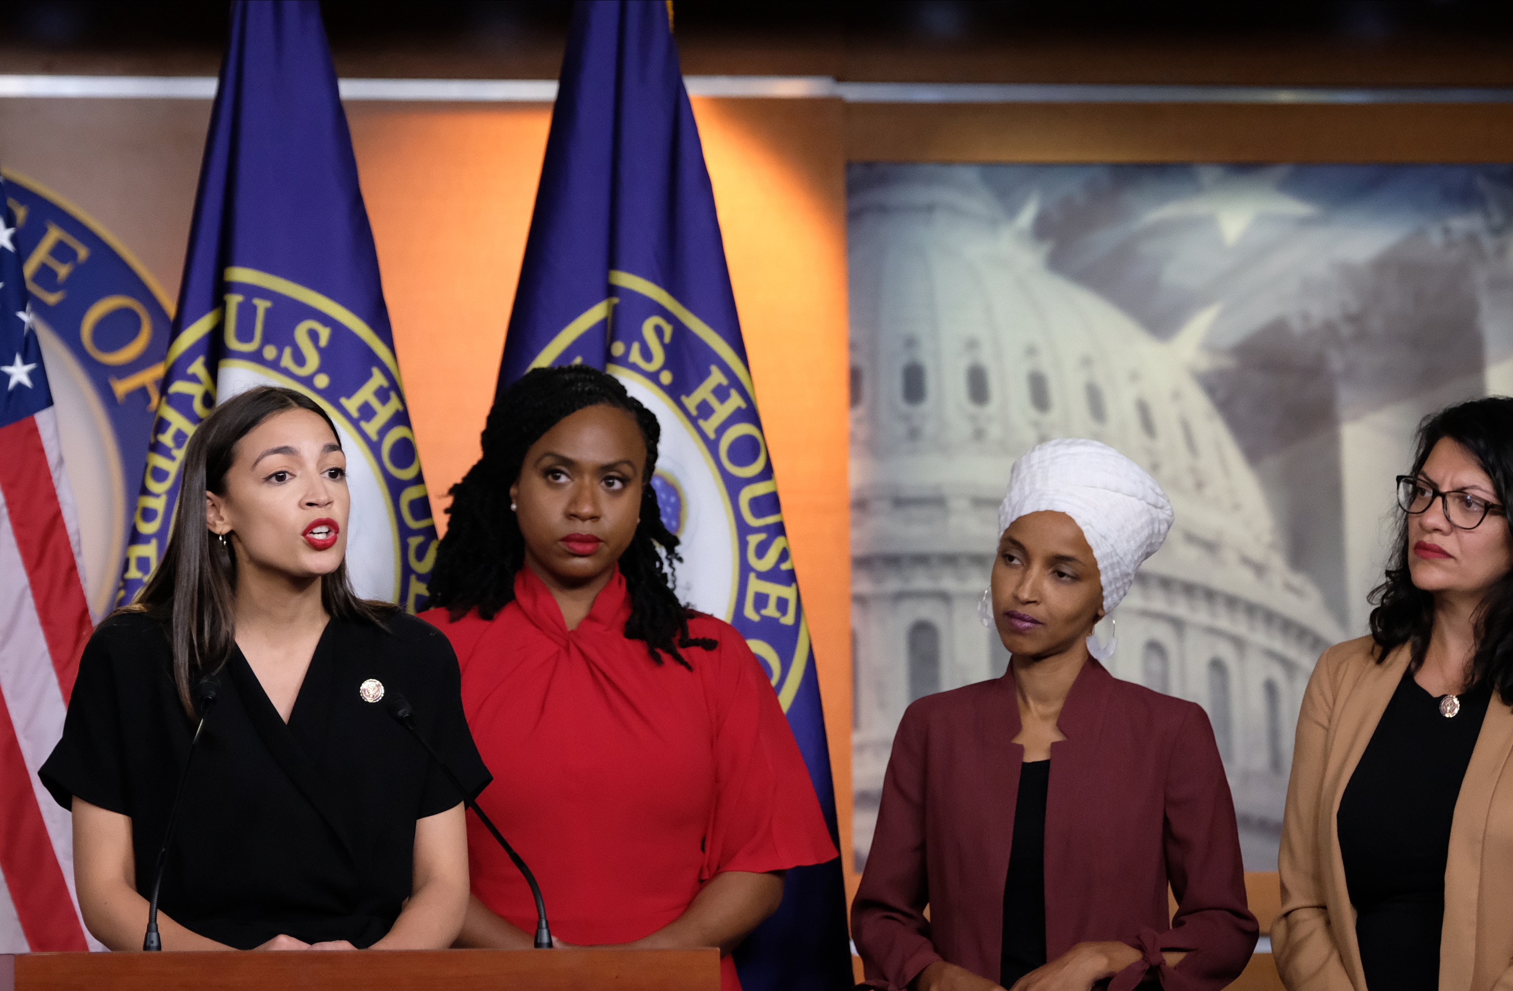
[[[336,424],[310,396],[294,389],[260,386],[210,410],[185,448],[183,484],[162,564],[126,610],[147,613],[168,626],[174,651],[174,684],[185,713],[194,719],[192,688],[221,670],[236,646],[236,552],[212,539],[204,516],[204,492],[225,495],[225,474],[236,445],[263,421],[289,410],[310,410],[325,421],[336,442]],[[359,599],[346,576],[346,560],[321,579],[321,605],[334,619],[383,623],[395,610],[387,602]],[[123,610],[123,611],[126,611]]]

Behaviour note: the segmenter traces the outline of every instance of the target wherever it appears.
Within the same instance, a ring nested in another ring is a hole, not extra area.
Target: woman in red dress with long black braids
[[[728,623],[685,608],[651,486],[657,418],[613,377],[536,369],[452,489],[425,614],[495,775],[478,799],[563,944],[731,950],[782,873],[837,856],[782,708]],[[536,909],[469,822],[458,946],[530,947]]]

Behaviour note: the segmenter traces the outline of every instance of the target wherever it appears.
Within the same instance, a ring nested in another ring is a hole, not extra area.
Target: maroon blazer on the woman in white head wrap
[[[1082,669],[1052,744],[1045,796],[1045,953],[1120,940],[1144,953],[1111,982],[1159,968],[1165,988],[1218,991],[1256,949],[1235,805],[1203,710]],[[882,784],[852,934],[867,983],[902,991],[946,959],[999,979],[1003,887],[1024,747],[1014,669],[920,699]],[[1167,885],[1177,896],[1168,923]],[[929,905],[930,918],[924,918]],[[1186,950],[1177,967],[1162,950]]]

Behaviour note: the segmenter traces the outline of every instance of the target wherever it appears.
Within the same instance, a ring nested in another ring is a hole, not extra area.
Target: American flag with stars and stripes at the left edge
[[[0,194],[3,194],[0,183]],[[6,197],[0,195],[0,207]],[[74,902],[68,809],[36,769],[64,731],[94,625],[53,393],[0,215],[0,953],[88,949]]]

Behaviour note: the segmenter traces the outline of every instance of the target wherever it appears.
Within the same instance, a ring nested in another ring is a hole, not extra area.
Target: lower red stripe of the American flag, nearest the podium
[[[0,697],[0,871],[32,952],[89,949],[42,809],[36,808],[32,773],[5,697]]]

